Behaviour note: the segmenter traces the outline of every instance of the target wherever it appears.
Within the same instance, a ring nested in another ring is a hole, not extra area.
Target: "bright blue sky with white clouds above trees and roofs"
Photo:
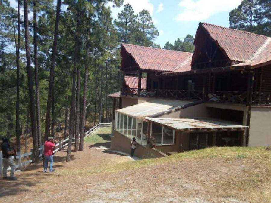
[[[154,25],[159,31],[155,43],[161,47],[167,41],[172,44],[178,38],[184,39],[187,34],[195,36],[200,22],[212,23],[220,26],[229,26],[228,14],[241,4],[242,0],[124,0],[120,7],[113,7],[113,19],[123,10],[125,4],[129,3],[135,14],[143,9],[150,12]],[[10,0],[11,6],[17,7],[15,0]],[[65,10],[65,6],[61,10]],[[22,9],[22,8],[21,8]],[[23,14],[23,12],[21,11]],[[29,18],[33,14],[29,14]]]

